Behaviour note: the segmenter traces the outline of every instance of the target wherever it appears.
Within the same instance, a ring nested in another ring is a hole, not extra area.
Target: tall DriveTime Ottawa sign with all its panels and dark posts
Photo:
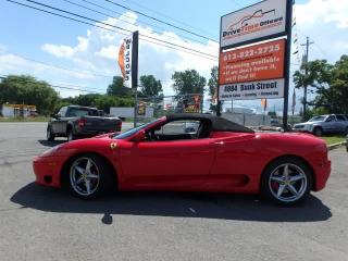
[[[221,101],[284,98],[287,129],[293,0],[264,0],[221,17]]]

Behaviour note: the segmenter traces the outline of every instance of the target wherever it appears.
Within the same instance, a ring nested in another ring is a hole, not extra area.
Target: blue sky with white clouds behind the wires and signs
[[[15,1],[35,5],[27,0]],[[162,82],[166,96],[174,94],[171,76],[175,71],[195,69],[207,79],[210,77],[211,67],[217,65],[216,59],[212,57],[219,54],[220,17],[257,2],[254,0],[112,1],[171,23],[175,27],[105,0],[37,0],[113,26],[128,30],[138,29],[142,35],[185,46],[187,49],[183,52],[140,39],[139,75],[154,75]],[[92,10],[86,10],[74,3]],[[296,1],[294,36],[297,35],[299,44],[304,44],[307,36],[314,41],[310,47],[309,60],[326,59],[334,63],[340,55],[348,53],[347,13],[347,0]],[[116,32],[79,24],[3,0],[0,2],[0,76],[29,74],[52,85],[105,92],[112,77],[121,74],[117,53],[124,38],[124,35],[119,34],[119,29],[109,28]],[[188,34],[187,30],[195,35]],[[291,57],[293,72],[299,69],[304,51],[300,45],[293,46],[293,50],[297,48],[300,52],[299,55]],[[191,52],[189,50],[209,53],[210,57],[207,59],[207,55],[191,54],[188,53]],[[57,90],[62,97],[86,94],[71,89]],[[300,108],[301,96],[302,92],[298,90],[297,111]],[[310,95],[310,99],[312,98],[313,95]],[[235,101],[235,104],[261,109],[258,100]],[[283,100],[272,100],[269,104],[271,109],[275,108],[278,111],[282,110]]]

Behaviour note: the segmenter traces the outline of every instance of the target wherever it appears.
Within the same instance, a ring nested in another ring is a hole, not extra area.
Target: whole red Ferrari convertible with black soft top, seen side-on
[[[325,187],[326,144],[256,133],[223,117],[173,114],[122,134],[59,145],[34,160],[36,182],[90,199],[119,190],[262,194],[294,204]]]

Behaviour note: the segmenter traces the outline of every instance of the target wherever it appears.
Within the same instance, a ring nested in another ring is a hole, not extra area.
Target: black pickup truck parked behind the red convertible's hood
[[[121,132],[122,121],[119,117],[100,116],[97,108],[69,105],[62,107],[47,126],[47,139],[67,137],[73,140],[80,137],[92,137],[99,134]]]

